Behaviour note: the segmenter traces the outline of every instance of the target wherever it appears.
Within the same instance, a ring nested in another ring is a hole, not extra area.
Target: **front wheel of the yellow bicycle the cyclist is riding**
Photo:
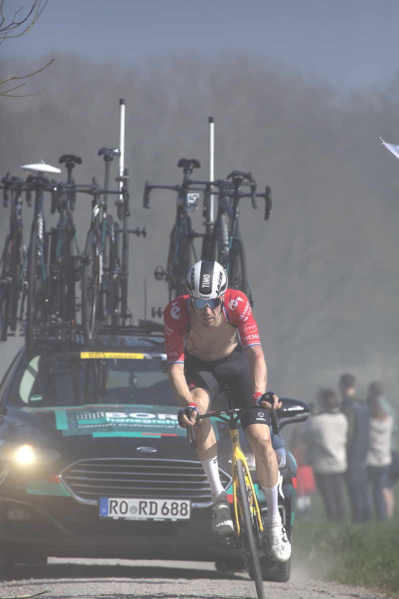
[[[240,521],[240,536],[239,544],[242,552],[245,567],[251,573],[251,577],[255,581],[258,599],[264,599],[263,581],[259,563],[259,554],[257,544],[252,530],[253,521],[251,513],[251,505],[249,503],[248,488],[245,482],[245,468],[240,459],[236,462],[236,475],[239,485],[240,503],[242,505],[242,518]],[[240,510],[239,510],[240,513]]]

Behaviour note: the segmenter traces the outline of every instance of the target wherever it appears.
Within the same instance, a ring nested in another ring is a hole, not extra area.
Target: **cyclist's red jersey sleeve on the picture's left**
[[[167,364],[184,364],[184,338],[188,323],[187,299],[178,297],[167,304],[163,313]]]

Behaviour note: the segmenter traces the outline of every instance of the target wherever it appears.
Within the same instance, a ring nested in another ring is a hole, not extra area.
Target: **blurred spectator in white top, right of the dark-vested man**
[[[394,419],[382,408],[382,383],[371,383],[367,403],[370,410],[370,447],[366,456],[368,480],[373,488],[377,519],[386,520],[383,489],[388,485],[389,465],[392,462],[392,428]]]

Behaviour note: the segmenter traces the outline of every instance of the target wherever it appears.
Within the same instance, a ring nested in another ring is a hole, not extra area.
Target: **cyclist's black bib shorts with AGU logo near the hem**
[[[184,353],[184,375],[188,388],[208,391],[211,402],[215,401],[224,385],[229,385],[233,408],[253,406],[252,377],[248,358],[242,347],[237,345],[226,358],[204,362],[189,353]],[[245,430],[249,424],[270,425],[269,412],[263,408],[245,412],[240,418]]]

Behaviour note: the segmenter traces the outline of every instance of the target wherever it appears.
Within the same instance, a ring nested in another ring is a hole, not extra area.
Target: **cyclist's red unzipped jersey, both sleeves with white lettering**
[[[223,298],[223,313],[227,322],[237,328],[243,349],[261,344],[251,306],[242,291],[227,289]],[[190,297],[181,295],[167,304],[163,314],[167,364],[184,364],[184,347],[189,323]]]

